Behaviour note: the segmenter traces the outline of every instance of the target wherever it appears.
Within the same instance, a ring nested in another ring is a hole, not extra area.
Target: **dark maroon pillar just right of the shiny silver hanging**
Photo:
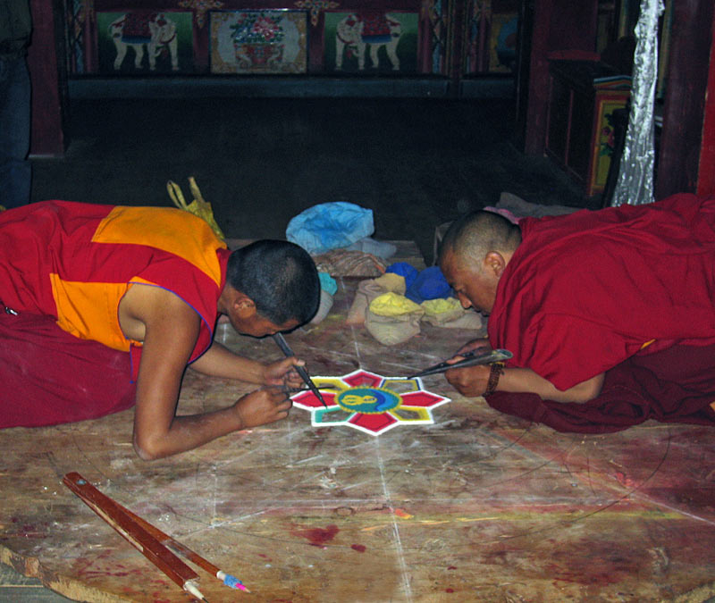
[[[663,106],[655,198],[699,190],[712,166],[702,165],[702,150],[713,144],[712,121],[703,131],[705,95],[711,71],[712,0],[675,0],[668,80]],[[712,113],[712,106],[710,107]],[[712,178],[712,176],[711,176]],[[703,188],[705,184],[703,183]]]

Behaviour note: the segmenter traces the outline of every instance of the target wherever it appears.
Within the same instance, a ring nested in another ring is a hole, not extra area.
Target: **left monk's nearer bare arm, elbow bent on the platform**
[[[134,448],[141,458],[171,456],[288,415],[290,400],[270,388],[212,413],[175,416],[181,378],[198,338],[198,314],[164,289],[135,286],[130,292],[134,289],[123,310],[144,328],[134,415]]]

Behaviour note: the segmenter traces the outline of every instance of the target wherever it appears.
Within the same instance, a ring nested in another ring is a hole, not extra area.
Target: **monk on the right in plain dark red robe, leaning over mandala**
[[[518,225],[475,212],[439,262],[462,306],[489,315],[488,339],[459,352],[514,355],[445,373],[462,394],[559,431],[715,424],[715,197]]]

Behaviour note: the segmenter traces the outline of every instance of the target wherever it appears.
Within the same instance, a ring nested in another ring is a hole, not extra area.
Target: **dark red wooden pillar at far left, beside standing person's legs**
[[[67,78],[63,61],[62,3],[30,0],[32,39],[28,49],[32,85],[30,155],[63,155]],[[58,60],[61,57],[62,60]]]

